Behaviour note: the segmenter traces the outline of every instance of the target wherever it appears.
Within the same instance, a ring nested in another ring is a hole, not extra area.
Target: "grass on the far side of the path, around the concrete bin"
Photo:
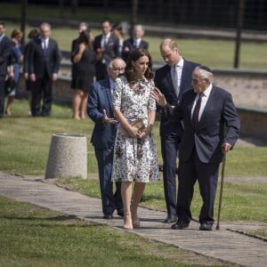
[[[74,120],[68,106],[53,104],[52,117],[28,117],[27,101],[17,100],[12,106],[12,117],[4,117],[0,125],[0,170],[12,174],[44,174],[53,134],[84,134],[87,138],[88,173],[97,176],[97,163],[90,143],[93,131],[91,119]],[[158,148],[160,141],[158,122],[154,127]],[[227,154],[223,191],[222,218],[227,221],[267,222],[267,183],[236,182],[235,177],[263,177],[267,181],[267,147],[238,144]],[[81,190],[93,197],[100,197],[97,180],[61,179],[74,190]],[[201,206],[198,185],[192,212],[198,217]],[[218,198],[218,194],[217,194]],[[216,200],[216,205],[218,200]],[[143,206],[165,210],[162,181],[148,184]],[[217,207],[215,207],[215,210]]]

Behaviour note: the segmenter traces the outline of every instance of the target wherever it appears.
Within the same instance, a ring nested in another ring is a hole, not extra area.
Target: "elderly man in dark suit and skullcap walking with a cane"
[[[154,98],[164,107],[166,116],[171,116],[175,123],[182,120],[184,125],[179,146],[178,220],[172,225],[174,230],[190,225],[190,203],[197,180],[203,200],[199,230],[212,230],[219,165],[223,153],[230,151],[239,138],[240,121],[231,93],[213,85],[213,79],[210,69],[196,67],[192,74],[194,90],[183,93],[175,108],[158,89],[154,91]]]

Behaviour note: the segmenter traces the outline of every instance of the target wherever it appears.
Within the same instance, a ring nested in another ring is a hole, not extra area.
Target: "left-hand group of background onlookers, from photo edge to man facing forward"
[[[29,32],[29,42],[21,48],[23,33],[20,29],[12,31],[12,39],[5,36],[4,21],[0,21],[0,117],[11,115],[20,78],[20,66],[26,79],[29,99],[29,115],[49,117],[52,112],[53,81],[57,79],[60,69],[61,52],[57,42],[51,38],[51,26],[42,23],[39,29]],[[11,92],[6,93],[8,84]],[[4,100],[7,98],[4,110]]]

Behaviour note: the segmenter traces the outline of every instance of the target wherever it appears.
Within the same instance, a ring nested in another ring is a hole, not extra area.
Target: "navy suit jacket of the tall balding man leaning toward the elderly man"
[[[176,106],[177,103],[181,101],[182,93],[192,89],[192,72],[197,66],[199,66],[198,63],[184,60],[182,67],[180,93],[178,97],[176,96],[174,90],[174,84],[171,74],[172,68],[166,64],[162,68],[156,70],[154,78],[155,86],[158,87],[161,93],[165,95],[166,101],[171,106]],[[178,134],[178,136],[181,136],[182,126],[174,124],[174,122],[172,122],[169,117],[166,117],[165,113],[162,112],[159,134],[161,136],[168,136],[170,134]]]

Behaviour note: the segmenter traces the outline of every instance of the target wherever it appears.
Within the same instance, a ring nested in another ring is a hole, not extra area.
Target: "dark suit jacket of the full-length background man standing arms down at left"
[[[53,73],[58,73],[60,62],[61,52],[55,40],[49,38],[46,56],[42,49],[41,38],[36,37],[32,41],[28,63],[29,74],[35,74],[36,78],[43,78],[45,74],[52,77]]]

